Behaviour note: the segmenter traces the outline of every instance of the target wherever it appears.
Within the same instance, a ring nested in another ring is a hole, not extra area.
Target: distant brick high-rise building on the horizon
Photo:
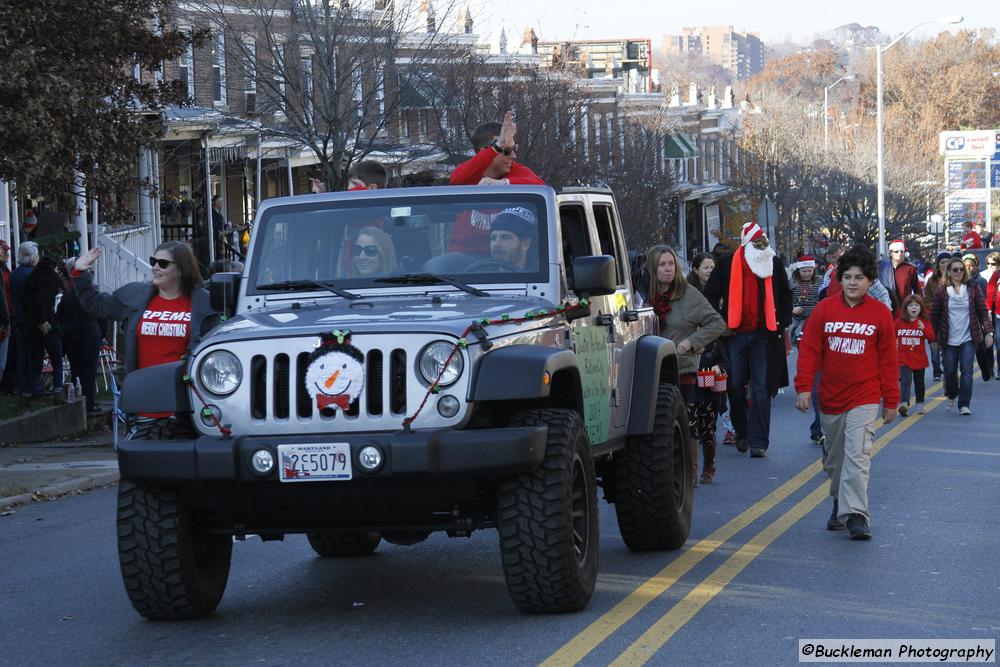
[[[664,35],[665,55],[698,53],[746,81],[764,67],[764,45],[754,32],[736,32],[731,25],[684,28],[680,35]]]

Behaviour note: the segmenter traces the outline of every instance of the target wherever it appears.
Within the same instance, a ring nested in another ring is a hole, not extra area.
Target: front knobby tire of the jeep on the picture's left
[[[177,491],[118,484],[118,561],[132,606],[155,620],[202,618],[219,605],[233,540],[199,532]]]

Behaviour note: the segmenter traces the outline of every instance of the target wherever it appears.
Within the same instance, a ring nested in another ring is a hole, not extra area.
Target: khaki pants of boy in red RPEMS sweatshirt
[[[875,444],[878,405],[860,405],[839,415],[820,412],[826,442],[823,469],[830,476],[830,495],[838,502],[841,521],[848,514],[868,513],[868,471]]]

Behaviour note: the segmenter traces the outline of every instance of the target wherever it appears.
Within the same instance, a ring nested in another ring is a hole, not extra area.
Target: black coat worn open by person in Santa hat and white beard
[[[778,330],[767,332],[767,387],[772,396],[778,389],[788,386],[788,364],[785,360],[784,331],[792,323],[792,288],[788,285],[788,274],[780,259],[772,260],[774,271],[771,276],[771,292],[774,295],[774,310],[778,320]],[[724,255],[715,263],[715,269],[705,285],[705,298],[727,319],[729,312],[729,280],[732,276],[733,256]],[[764,308],[764,281],[760,278],[757,290],[761,310]],[[763,324],[762,324],[763,326]],[[731,332],[730,332],[731,333]]]

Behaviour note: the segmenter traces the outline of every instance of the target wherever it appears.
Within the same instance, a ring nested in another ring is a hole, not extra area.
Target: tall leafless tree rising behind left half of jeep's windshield
[[[393,150],[404,92],[449,47],[452,5],[418,0],[195,0],[225,36],[266,134],[312,151],[330,190],[373,150]],[[400,66],[405,62],[405,66]],[[249,111],[249,110],[247,110]]]

